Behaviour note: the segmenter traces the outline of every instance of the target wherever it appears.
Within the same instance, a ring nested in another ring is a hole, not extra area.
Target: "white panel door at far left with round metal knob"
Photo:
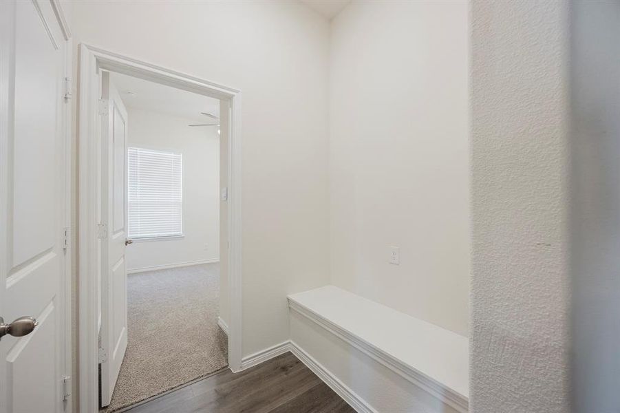
[[[50,1],[0,2],[0,317],[38,322],[0,326],[0,413],[66,407],[66,47]]]

